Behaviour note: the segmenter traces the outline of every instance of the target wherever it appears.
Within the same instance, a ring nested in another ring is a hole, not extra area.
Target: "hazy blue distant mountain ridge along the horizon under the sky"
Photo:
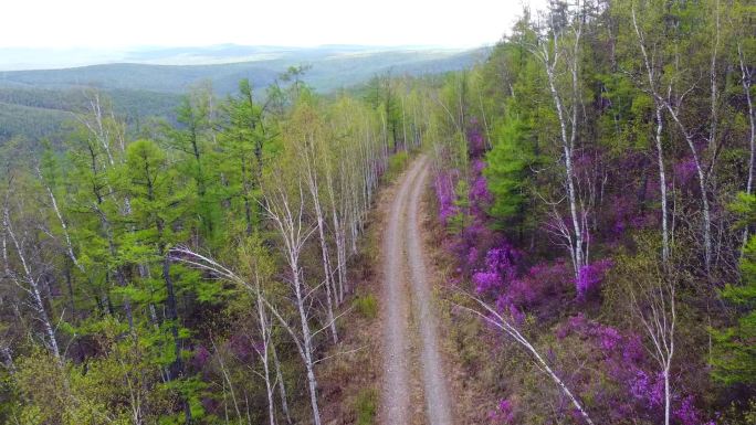
[[[389,70],[397,74],[458,71],[470,67],[487,55],[487,49],[440,50],[410,47],[323,46],[316,49],[251,47],[175,47],[128,53],[127,63],[109,63],[57,70],[3,71],[0,87],[66,89],[95,86],[103,89],[139,89],[179,94],[198,81],[209,79],[225,95],[242,78],[255,87],[271,84],[290,66],[311,65],[305,81],[315,89],[329,92],[359,84]],[[0,57],[2,55],[0,54]],[[216,62],[234,57],[244,62],[177,65],[176,62]],[[253,59],[253,60],[249,60]]]

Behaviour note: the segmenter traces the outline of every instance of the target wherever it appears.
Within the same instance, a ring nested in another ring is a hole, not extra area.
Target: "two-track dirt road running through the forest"
[[[401,179],[386,217],[382,245],[384,386],[379,419],[385,425],[451,425],[448,375],[420,232],[428,159],[417,159]],[[419,363],[418,373],[414,363]],[[418,380],[426,401],[422,415],[411,408],[414,394],[410,389]]]

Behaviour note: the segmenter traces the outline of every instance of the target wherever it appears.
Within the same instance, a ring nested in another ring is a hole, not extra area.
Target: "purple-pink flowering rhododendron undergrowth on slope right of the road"
[[[665,379],[653,349],[655,337],[639,319],[649,317],[648,312],[639,310],[644,307],[636,306],[627,296],[617,299],[621,293],[617,290],[618,283],[649,278],[617,267],[617,258],[626,258],[628,249],[638,249],[632,235],[648,232],[660,222],[659,212],[648,201],[659,195],[658,181],[649,177],[642,188],[629,190],[634,187],[633,180],[643,179],[645,171],[638,167],[649,167],[648,161],[638,156],[612,159],[601,150],[584,153],[576,161],[577,172],[584,177],[592,173],[599,181],[607,179],[603,188],[599,188],[606,206],[600,211],[586,210],[582,217],[585,243],[590,249],[586,249],[586,263],[576,270],[567,252],[555,249],[559,242],[554,238],[554,230],[559,224],[554,224],[553,215],[540,215],[540,224],[528,238],[523,237],[522,230],[502,225],[502,219],[492,214],[496,194],[489,190],[486,160],[494,157],[486,157],[482,148],[487,144],[480,121],[471,119],[469,126],[472,130],[468,131],[468,167],[441,169],[433,184],[437,216],[447,230],[443,246],[456,259],[453,284],[466,287],[511,326],[525,332],[595,422],[663,423]],[[628,170],[596,167],[605,161],[617,161]],[[681,183],[690,179],[687,168],[672,170],[680,174]],[[568,225],[569,215],[564,215],[561,226]],[[618,257],[620,253],[624,256]],[[606,297],[615,298],[608,302]],[[526,362],[534,361],[527,350],[522,350],[521,342],[507,338],[496,327],[481,329],[497,334],[494,339],[480,339],[492,353],[491,371],[485,376],[501,376],[489,378],[486,421],[539,423],[549,417],[543,412],[543,404],[548,404],[552,415],[556,415],[552,417],[571,423],[585,421],[540,368],[511,360],[511,355],[516,355]],[[679,337],[675,342],[682,344],[691,338]],[[493,354],[498,350],[508,354]],[[711,402],[702,392],[705,386],[691,384],[705,380],[706,369],[682,364],[684,357],[679,351],[672,357],[668,379],[674,389],[669,399],[670,421],[681,425],[714,424],[717,414],[705,410]],[[534,391],[540,392],[543,400]]]

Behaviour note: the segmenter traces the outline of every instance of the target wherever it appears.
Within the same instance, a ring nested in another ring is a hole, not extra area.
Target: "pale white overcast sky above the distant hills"
[[[3,0],[0,47],[493,44],[523,1]]]

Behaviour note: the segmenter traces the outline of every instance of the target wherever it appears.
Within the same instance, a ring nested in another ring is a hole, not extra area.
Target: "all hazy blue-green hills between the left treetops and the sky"
[[[0,141],[13,136],[39,138],[56,132],[80,110],[83,87],[97,87],[113,98],[116,113],[129,123],[159,116],[172,119],[180,96],[199,82],[209,81],[224,97],[248,78],[253,87],[267,87],[290,66],[309,65],[303,78],[321,93],[350,87],[377,74],[421,75],[469,68],[483,60],[485,49],[451,51],[431,49],[376,50],[360,46],[318,49],[214,46],[139,51],[124,54],[135,63],[88,65],[60,70],[0,72]],[[7,53],[7,52],[6,52]],[[3,59],[0,52],[0,59]],[[213,63],[253,59],[237,63]],[[166,65],[156,63],[197,63]],[[0,64],[9,63],[8,59]],[[258,92],[259,94],[262,91]]]

